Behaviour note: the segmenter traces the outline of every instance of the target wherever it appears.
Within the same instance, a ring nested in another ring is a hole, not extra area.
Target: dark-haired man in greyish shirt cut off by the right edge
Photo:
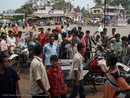
[[[122,43],[124,44],[124,47],[123,47],[123,63],[125,65],[127,65],[128,62],[130,61],[130,45],[128,43],[128,37],[123,36],[121,38],[121,40],[122,40]]]

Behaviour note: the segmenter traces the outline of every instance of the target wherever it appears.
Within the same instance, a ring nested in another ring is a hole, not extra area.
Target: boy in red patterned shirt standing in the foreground
[[[67,89],[63,80],[61,67],[58,65],[58,57],[52,55],[50,62],[51,67],[47,70],[47,74],[51,86],[50,92],[52,98],[66,98]]]

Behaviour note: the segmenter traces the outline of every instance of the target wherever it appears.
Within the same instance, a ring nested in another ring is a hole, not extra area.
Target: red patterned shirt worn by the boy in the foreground
[[[53,97],[58,97],[67,93],[61,67],[57,65],[57,68],[57,71],[55,71],[52,67],[47,70],[48,79],[51,86],[50,91]]]

